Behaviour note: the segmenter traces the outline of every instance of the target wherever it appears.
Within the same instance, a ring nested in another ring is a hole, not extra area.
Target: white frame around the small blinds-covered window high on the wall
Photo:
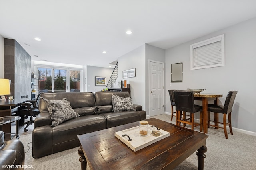
[[[210,45],[210,44],[218,42],[218,41],[220,41],[220,43],[221,43],[221,63],[220,64],[211,64],[211,65],[203,65],[203,66],[196,66],[195,67],[194,66],[194,49],[196,49],[198,47],[202,47],[204,45]],[[219,66],[225,66],[224,34],[190,45],[190,70],[197,70],[197,69],[203,69],[203,68],[212,68],[212,67],[219,67]]]

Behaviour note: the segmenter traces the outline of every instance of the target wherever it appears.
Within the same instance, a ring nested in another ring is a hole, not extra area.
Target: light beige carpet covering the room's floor
[[[154,118],[171,122],[170,115],[166,114],[154,116]],[[174,121],[171,123],[175,124]],[[198,131],[198,129],[195,130]],[[253,170],[256,168],[256,137],[234,132],[234,135],[228,133],[229,139],[226,139],[223,129],[216,130],[212,127],[208,129],[208,134],[209,137],[206,139],[208,151],[204,160],[205,170]],[[28,167],[24,168],[24,170],[81,169],[78,160],[80,158],[78,156],[79,147],[39,159],[32,158],[31,136],[32,134],[20,136],[20,141],[24,144],[25,152],[28,151],[25,154],[25,166]],[[87,166],[87,169],[89,170],[90,168]],[[175,168],[175,170],[196,169],[198,169],[196,152]]]

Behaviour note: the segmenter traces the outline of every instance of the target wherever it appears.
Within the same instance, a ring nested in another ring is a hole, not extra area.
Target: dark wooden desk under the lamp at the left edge
[[[21,103],[26,102],[28,99],[14,99],[14,100],[0,100],[0,117],[11,116],[12,106],[18,106]],[[2,125],[0,127],[1,131],[4,133],[11,133],[11,124]],[[10,139],[5,139],[10,140]]]

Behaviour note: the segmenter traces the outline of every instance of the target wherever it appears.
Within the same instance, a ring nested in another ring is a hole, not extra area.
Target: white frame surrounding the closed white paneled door
[[[165,93],[164,93],[164,90],[165,90],[165,84],[164,84],[164,79],[165,79],[165,76],[164,76],[164,62],[162,61],[156,61],[156,60],[148,60],[148,115],[150,117],[150,62],[154,62],[154,63],[159,63],[159,64],[162,64],[163,65],[163,70],[162,70],[162,75],[163,75],[163,98],[162,98],[162,101],[163,101],[163,105],[164,105],[164,108],[165,108]],[[165,109],[164,109],[165,110]]]

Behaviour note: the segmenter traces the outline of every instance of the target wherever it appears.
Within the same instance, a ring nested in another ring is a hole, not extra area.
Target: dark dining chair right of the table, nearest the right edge
[[[230,133],[233,135],[232,126],[231,126],[231,112],[234,104],[234,100],[236,98],[237,91],[229,91],[226,97],[224,106],[223,105],[215,105],[215,104],[208,104],[208,126],[213,126],[218,128],[224,129],[225,137],[228,139],[227,133],[227,125],[229,125]],[[210,125],[210,112],[214,113],[214,125]],[[218,120],[218,113],[223,114],[223,122],[219,122]],[[226,122],[228,114],[228,123]],[[222,124],[223,127],[220,127],[218,124]]]

